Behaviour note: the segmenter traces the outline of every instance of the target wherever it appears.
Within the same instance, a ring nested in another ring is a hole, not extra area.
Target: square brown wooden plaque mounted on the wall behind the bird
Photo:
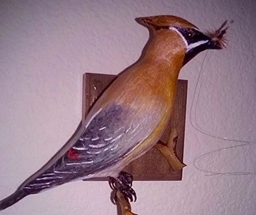
[[[90,107],[117,75],[85,73],[83,76],[82,117],[86,117]],[[178,158],[183,161],[185,116],[187,102],[187,80],[178,80],[177,95],[167,129],[161,141],[166,143],[175,129],[178,139],[175,147]],[[182,170],[173,171],[164,156],[153,147],[142,157],[130,163],[124,171],[132,174],[135,181],[179,181]],[[104,180],[104,179],[102,179]]]

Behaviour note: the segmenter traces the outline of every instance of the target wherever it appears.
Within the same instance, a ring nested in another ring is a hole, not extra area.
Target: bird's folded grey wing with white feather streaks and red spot
[[[112,165],[151,133],[142,117],[119,105],[101,110],[75,144],[24,189],[36,193]]]

